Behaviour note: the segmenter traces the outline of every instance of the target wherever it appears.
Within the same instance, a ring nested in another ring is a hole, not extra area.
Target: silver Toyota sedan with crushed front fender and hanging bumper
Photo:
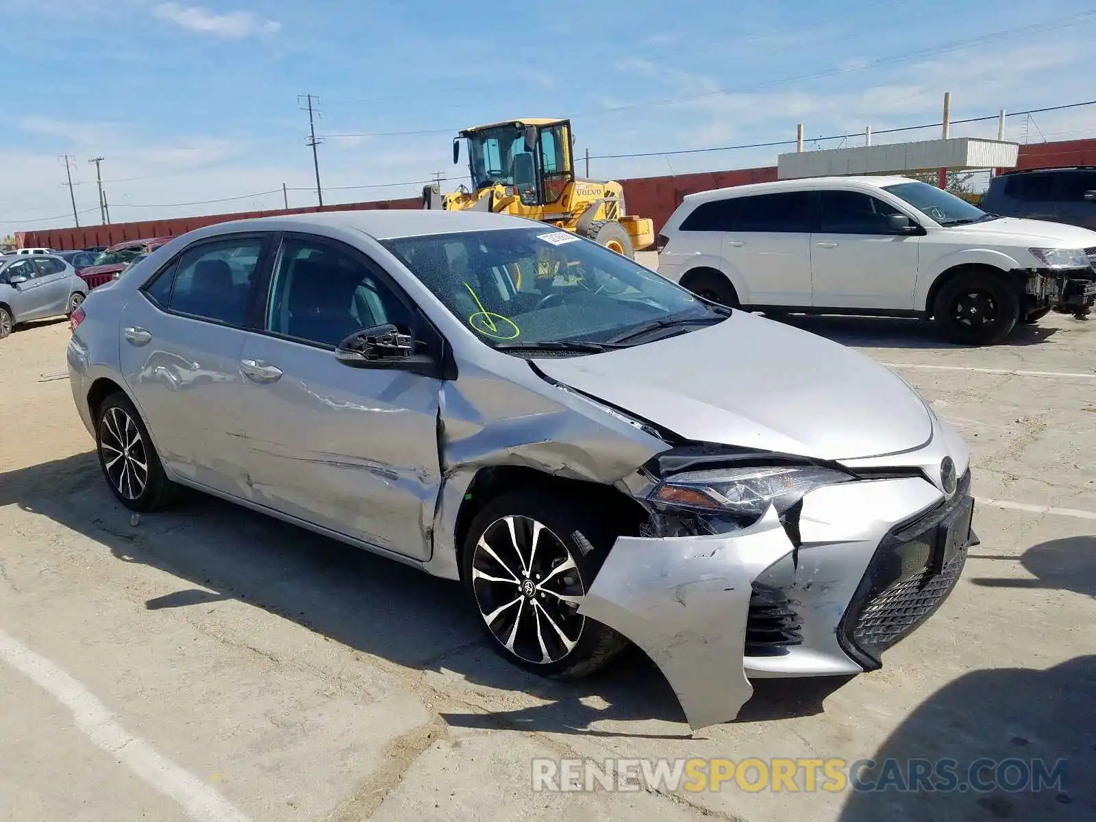
[[[186,486],[459,581],[547,676],[630,640],[694,728],[879,667],[977,541],[968,448],[900,377],[539,222],[221,224],[72,324],[123,505]]]

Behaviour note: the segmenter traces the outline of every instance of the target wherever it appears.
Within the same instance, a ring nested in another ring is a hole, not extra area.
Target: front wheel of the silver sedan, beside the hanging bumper
[[[513,491],[472,520],[464,585],[496,653],[526,671],[578,678],[605,667],[627,640],[578,613],[616,535],[572,499]]]

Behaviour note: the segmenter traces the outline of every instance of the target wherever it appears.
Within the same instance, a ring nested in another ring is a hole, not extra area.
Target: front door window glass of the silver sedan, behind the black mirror
[[[388,322],[415,324],[413,312],[368,266],[323,242],[283,243],[271,283],[270,331],[334,346],[358,329]]]

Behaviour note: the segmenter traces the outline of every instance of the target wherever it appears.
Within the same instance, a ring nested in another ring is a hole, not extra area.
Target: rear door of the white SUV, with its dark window
[[[811,305],[811,192],[727,201],[723,260],[746,284],[743,305]]]

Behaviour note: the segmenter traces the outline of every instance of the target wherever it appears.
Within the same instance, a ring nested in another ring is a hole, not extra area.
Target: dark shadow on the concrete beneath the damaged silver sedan
[[[134,515],[111,495],[93,453],[0,475],[0,506],[12,503],[90,537],[119,561],[176,576],[179,589],[150,598],[149,610],[237,600],[363,653],[441,674],[438,687],[456,689],[465,680],[541,700],[488,715],[444,713],[450,726],[621,737],[631,734],[591,724],[655,719],[670,724],[636,735],[692,737],[673,690],[638,649],[602,675],[546,680],[489,648],[459,584],[197,492],[171,511]],[[819,713],[844,682],[758,681],[737,721]]]

